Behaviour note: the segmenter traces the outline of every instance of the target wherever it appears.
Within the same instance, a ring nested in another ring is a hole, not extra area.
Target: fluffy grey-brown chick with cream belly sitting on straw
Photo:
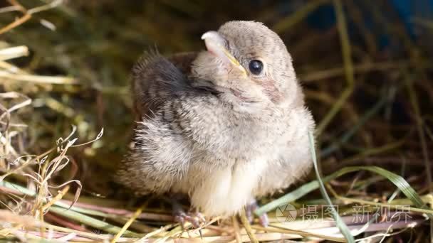
[[[149,54],[133,68],[135,147],[119,178],[137,195],[183,193],[228,216],[308,172],[315,125],[276,33],[230,21],[202,39],[207,51]]]

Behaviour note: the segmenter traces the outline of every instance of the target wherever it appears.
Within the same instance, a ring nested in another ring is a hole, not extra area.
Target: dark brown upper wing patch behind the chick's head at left
[[[167,99],[190,88],[187,75],[196,56],[197,53],[180,53],[165,58],[156,52],[142,55],[132,68],[136,119],[151,117]]]

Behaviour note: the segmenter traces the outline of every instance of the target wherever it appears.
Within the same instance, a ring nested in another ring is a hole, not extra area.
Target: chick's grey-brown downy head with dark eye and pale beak
[[[192,63],[194,85],[240,107],[293,102],[298,85],[291,55],[263,23],[230,21],[202,39],[207,51]]]

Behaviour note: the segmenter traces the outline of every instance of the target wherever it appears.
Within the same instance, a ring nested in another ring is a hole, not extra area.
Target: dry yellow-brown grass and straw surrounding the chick
[[[262,199],[256,212],[269,213],[266,229],[242,216],[185,231],[164,200],[130,198],[108,176],[130,139],[127,82],[142,50],[153,43],[163,53],[198,50],[200,33],[234,18],[264,21],[288,44],[318,121],[323,183],[351,234],[375,242],[432,237],[432,21],[417,17],[424,34],[414,38],[385,0],[311,1],[291,13],[278,11],[281,2],[1,4],[0,238],[345,242],[314,175],[283,198]],[[306,20],[321,6],[337,13],[324,30]],[[278,215],[288,202],[298,210],[290,222],[287,212]],[[377,208],[385,211],[373,217]]]

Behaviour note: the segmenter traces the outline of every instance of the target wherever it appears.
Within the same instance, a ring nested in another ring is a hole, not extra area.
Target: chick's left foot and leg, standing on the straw
[[[198,228],[200,224],[206,222],[204,216],[197,210],[185,212],[177,195],[172,197],[172,208],[174,221],[179,222],[182,227],[184,227],[185,222],[190,222],[194,228]]]

